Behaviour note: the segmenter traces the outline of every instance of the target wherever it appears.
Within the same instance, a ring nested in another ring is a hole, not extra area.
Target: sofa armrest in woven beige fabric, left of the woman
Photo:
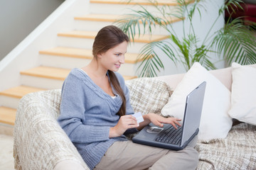
[[[60,90],[40,91],[21,98],[14,126],[16,169],[59,169],[69,162],[78,169],[89,169],[65,132],[58,118]]]

